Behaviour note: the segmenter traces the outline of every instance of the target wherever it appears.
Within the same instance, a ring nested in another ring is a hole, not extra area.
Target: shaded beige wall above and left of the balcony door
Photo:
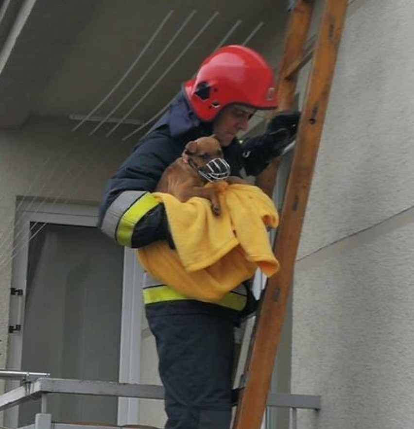
[[[0,368],[6,364],[16,198],[97,204],[131,150],[118,137],[87,137],[87,126],[71,133],[73,126],[69,120],[32,119],[21,130],[0,131]]]

